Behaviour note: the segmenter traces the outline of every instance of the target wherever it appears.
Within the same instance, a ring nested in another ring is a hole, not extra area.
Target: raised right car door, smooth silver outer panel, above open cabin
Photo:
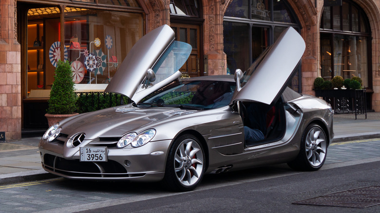
[[[292,27],[287,28],[242,77],[235,74],[241,86],[236,88],[230,104],[236,101],[271,104],[277,100],[293,76],[304,50],[302,36]]]

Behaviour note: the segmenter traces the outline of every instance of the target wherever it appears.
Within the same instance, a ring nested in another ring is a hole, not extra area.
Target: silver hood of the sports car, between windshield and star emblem
[[[98,137],[113,138],[121,137],[157,121],[193,112],[195,111],[171,107],[119,106],[77,115],[73,119],[64,120],[60,126],[61,133],[68,137],[83,132],[86,134],[86,140]]]

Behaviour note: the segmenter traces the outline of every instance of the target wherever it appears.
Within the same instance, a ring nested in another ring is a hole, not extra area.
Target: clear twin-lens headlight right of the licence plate
[[[138,135],[135,132],[128,133],[117,142],[117,147],[123,148],[128,144],[131,144],[132,147],[142,146],[150,142],[155,134],[156,130],[154,129],[145,130]]]

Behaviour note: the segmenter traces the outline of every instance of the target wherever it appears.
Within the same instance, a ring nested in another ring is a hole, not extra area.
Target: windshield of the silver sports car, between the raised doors
[[[140,106],[212,109],[227,106],[236,84],[226,81],[174,82],[145,97]]]

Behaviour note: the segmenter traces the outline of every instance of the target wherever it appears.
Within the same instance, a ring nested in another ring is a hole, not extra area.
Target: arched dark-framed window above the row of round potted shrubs
[[[334,17],[333,32],[327,25],[330,11]],[[321,76],[331,80],[337,75],[343,79],[355,75],[361,77],[364,87],[372,88],[368,79],[368,65],[371,63],[368,41],[371,34],[366,31],[368,18],[364,11],[351,1],[343,1],[342,6],[324,7],[322,17]],[[337,26],[338,20],[342,20],[342,28]]]

